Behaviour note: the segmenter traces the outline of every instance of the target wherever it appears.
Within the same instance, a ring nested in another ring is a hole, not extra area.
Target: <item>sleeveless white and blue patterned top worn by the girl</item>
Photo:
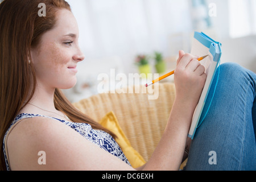
[[[64,121],[61,119],[48,117],[46,115],[39,115],[39,114],[19,114],[14,119],[13,123],[11,123],[11,126],[6,131],[5,137],[3,139],[3,154],[5,156],[7,171],[10,171],[9,161],[7,158],[8,154],[6,153],[6,147],[5,147],[5,140],[6,140],[7,133],[9,132],[11,127],[20,119],[32,118],[32,117],[47,117],[47,118],[52,118],[57,121],[60,121],[65,125],[71,127],[73,130],[77,131],[79,134],[82,135],[82,137],[88,139],[90,142],[96,144],[97,146],[104,149],[105,151],[108,151],[110,154],[117,156],[117,158],[123,160],[123,162],[131,166],[125,154],[123,154],[123,151],[121,150],[117,142],[115,142],[114,138],[110,134],[106,133],[105,131],[92,129],[92,126],[90,126],[88,123],[74,123],[74,122]]]

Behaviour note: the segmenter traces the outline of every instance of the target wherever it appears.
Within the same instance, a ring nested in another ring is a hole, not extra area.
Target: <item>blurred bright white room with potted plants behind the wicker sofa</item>
[[[71,102],[115,89],[119,73],[128,78],[129,73],[143,72],[139,64],[148,63],[150,72],[160,75],[172,71],[178,51],[190,52],[194,31],[222,43],[221,63],[238,63],[256,72],[256,0],[67,2],[79,24],[85,54],[76,86],[64,90]],[[155,67],[159,60],[164,61],[162,71]],[[102,80],[102,73],[109,80]],[[99,86],[102,81],[109,86]]]

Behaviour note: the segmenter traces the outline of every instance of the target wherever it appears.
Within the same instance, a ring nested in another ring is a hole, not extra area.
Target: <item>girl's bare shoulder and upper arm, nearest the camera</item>
[[[12,170],[131,170],[71,127],[46,117],[18,123],[7,146]]]

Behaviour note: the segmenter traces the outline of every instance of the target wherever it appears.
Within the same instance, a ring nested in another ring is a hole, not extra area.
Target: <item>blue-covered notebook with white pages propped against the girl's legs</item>
[[[201,97],[193,114],[191,127],[188,133],[188,137],[193,139],[197,127],[199,127],[203,122],[205,115],[207,115],[210,107],[210,104],[208,104],[208,106],[205,106],[205,101],[207,100],[210,86],[214,84],[214,92],[216,89],[217,82],[213,82],[213,78],[215,74],[218,74],[220,72],[220,69],[217,68],[218,65],[220,65],[221,43],[216,42],[209,36],[205,35],[203,32],[195,32],[192,41],[191,54],[200,57],[209,55],[204,60],[200,61],[200,64],[204,65],[205,67],[207,80],[205,81],[203,92],[201,93]],[[214,94],[209,97],[213,98],[213,96]],[[210,103],[212,101],[212,98],[210,98]],[[204,112],[204,114],[202,115],[204,107],[207,107],[205,108],[205,110],[207,111]]]

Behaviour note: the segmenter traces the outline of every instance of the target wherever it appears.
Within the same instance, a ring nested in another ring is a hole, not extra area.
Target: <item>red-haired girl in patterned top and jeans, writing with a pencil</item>
[[[46,16],[38,15],[39,3],[46,5]],[[0,28],[1,169],[133,170],[115,136],[60,92],[76,84],[77,63],[84,60],[68,3],[5,0]],[[151,159],[138,169],[179,169],[206,78],[196,59],[179,52],[166,130]],[[216,95],[197,129],[186,169],[256,169],[255,80],[238,65],[221,65]],[[46,165],[38,164],[39,151],[46,152]],[[209,151],[216,152],[216,165],[208,163]]]

